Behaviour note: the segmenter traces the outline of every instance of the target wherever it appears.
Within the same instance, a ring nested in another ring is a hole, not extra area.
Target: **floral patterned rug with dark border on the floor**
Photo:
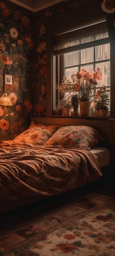
[[[115,198],[91,194],[0,233],[0,256],[115,256]]]

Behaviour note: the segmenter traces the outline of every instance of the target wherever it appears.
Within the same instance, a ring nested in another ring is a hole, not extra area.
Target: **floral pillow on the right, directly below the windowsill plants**
[[[89,126],[65,126],[59,128],[45,145],[66,145],[90,150],[102,140],[98,130]]]

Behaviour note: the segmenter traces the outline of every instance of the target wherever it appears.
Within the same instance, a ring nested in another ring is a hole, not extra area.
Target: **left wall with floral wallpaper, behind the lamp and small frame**
[[[0,0],[0,96],[4,74],[19,78],[19,91],[7,91],[13,106],[0,106],[0,140],[13,139],[26,130],[34,113],[34,17],[31,11]]]

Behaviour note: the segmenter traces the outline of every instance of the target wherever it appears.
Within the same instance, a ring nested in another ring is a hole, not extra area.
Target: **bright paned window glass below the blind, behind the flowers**
[[[110,44],[98,45],[75,52],[66,53],[64,58],[64,76],[71,79],[71,74],[76,74],[82,67],[93,72],[97,67],[102,73],[102,80],[94,88],[93,94],[103,84],[110,89]],[[63,66],[63,65],[62,65]],[[110,98],[110,95],[109,95]]]

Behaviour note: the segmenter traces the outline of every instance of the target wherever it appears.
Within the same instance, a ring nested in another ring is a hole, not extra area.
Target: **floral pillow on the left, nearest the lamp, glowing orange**
[[[32,121],[29,128],[15,137],[13,141],[17,144],[44,145],[59,127],[57,125],[45,126],[43,124],[35,124]]]

